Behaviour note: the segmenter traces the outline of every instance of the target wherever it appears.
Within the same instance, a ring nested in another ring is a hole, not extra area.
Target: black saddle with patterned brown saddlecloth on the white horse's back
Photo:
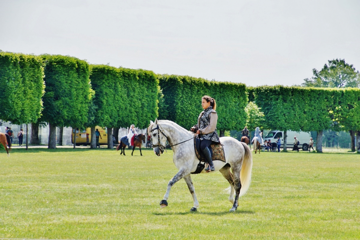
[[[210,145],[210,151],[212,152],[212,160],[213,161],[220,160],[220,161],[226,162],[225,152],[224,152],[224,148],[222,146],[223,145],[221,143],[216,143],[216,144]],[[194,172],[192,172],[191,174],[198,174],[205,168],[205,163],[206,163],[206,158],[200,149],[199,136],[196,136],[194,138],[194,149],[195,149],[196,157],[199,159],[200,162],[199,162],[196,170]],[[202,162],[204,162],[204,163],[202,163]]]

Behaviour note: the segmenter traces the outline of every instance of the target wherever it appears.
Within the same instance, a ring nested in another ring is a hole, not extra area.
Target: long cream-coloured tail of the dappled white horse
[[[250,187],[251,182],[251,172],[252,172],[252,153],[249,148],[249,146],[245,143],[242,143],[245,149],[244,159],[243,159],[243,165],[241,166],[240,171],[240,183],[241,183],[241,189],[240,189],[240,195],[239,197],[246,194]]]

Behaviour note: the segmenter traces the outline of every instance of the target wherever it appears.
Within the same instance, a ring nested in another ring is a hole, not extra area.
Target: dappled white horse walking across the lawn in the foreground
[[[156,119],[155,122],[150,121],[147,130],[151,136],[152,147],[157,156],[160,156],[164,152],[163,149],[165,148],[166,140],[169,141],[170,145],[174,145],[172,146],[174,152],[173,160],[175,166],[179,169],[179,172],[168,183],[168,189],[164,195],[164,199],[160,202],[161,208],[168,205],[167,200],[169,199],[171,187],[183,178],[194,200],[194,206],[190,211],[196,211],[199,207],[199,202],[196,198],[195,188],[192,185],[190,177],[190,173],[196,170],[199,163],[194,151],[194,141],[192,140],[194,134],[169,120]],[[214,161],[215,171],[221,172],[230,183],[229,201],[233,203],[230,212],[234,212],[239,205],[239,197],[243,196],[250,186],[252,153],[245,143],[241,143],[235,138],[221,137],[220,142],[224,145],[226,162]],[[206,172],[203,170],[201,173]],[[235,199],[234,192],[236,193]]]

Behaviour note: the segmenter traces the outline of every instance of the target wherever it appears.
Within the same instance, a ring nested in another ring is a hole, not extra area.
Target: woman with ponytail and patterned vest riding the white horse
[[[215,171],[214,163],[211,157],[210,144],[220,142],[216,131],[217,113],[216,101],[209,96],[201,98],[201,106],[204,111],[200,113],[198,124],[191,127],[191,131],[196,131],[200,138],[200,149],[204,153],[209,166],[205,168],[206,172]]]

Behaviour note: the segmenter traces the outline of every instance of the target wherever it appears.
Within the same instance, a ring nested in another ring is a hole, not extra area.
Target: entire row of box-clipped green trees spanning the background
[[[319,152],[327,129],[350,131],[353,138],[357,134],[360,139],[358,88],[247,88],[242,83],[89,65],[70,56],[0,51],[0,91],[0,119],[31,123],[34,141],[38,125],[48,122],[49,148],[56,148],[56,127],[91,127],[92,148],[97,125],[108,128],[109,148],[111,133],[117,136],[120,126],[145,128],[157,117],[189,129],[202,111],[203,95],[216,99],[221,136],[225,130],[262,124],[284,131],[286,144],[288,130],[316,131]],[[264,118],[262,123],[260,118]],[[355,150],[355,145],[352,147]]]

